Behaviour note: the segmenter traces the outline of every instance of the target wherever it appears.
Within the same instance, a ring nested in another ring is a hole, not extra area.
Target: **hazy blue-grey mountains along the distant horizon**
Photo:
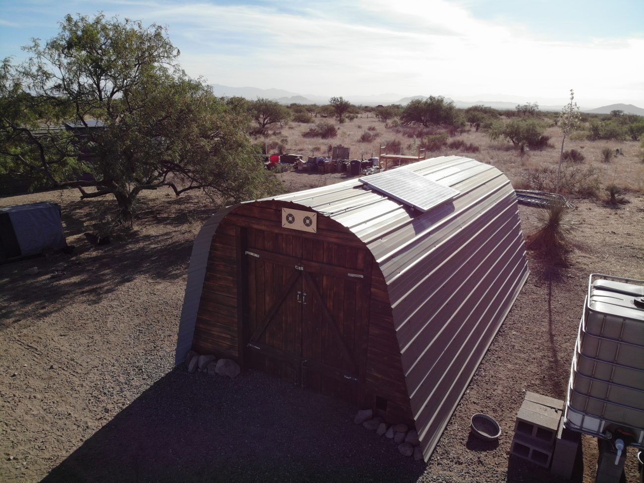
[[[221,84],[211,84],[213,92],[215,95],[219,96],[239,96],[245,97],[246,99],[256,99],[257,97],[264,97],[266,99],[272,99],[277,101],[280,104],[328,104],[330,96],[315,95],[315,94],[297,94],[296,92],[290,92],[283,89],[260,89],[258,87],[231,87],[231,86],[222,86]],[[393,94],[388,92],[386,94],[379,95],[345,95],[343,96],[347,101],[350,101],[354,104],[359,104],[363,106],[377,106],[379,104],[409,104],[414,99],[426,99],[424,95],[413,95],[410,97],[401,97],[399,94]],[[498,97],[509,97],[506,95],[498,94]],[[453,101],[454,105],[460,109],[466,109],[477,104],[482,104],[484,106],[489,106],[498,110],[514,109],[520,102],[508,102],[508,101],[457,101],[446,97],[449,101]],[[524,102],[528,102],[526,100]],[[564,106],[560,105],[540,105],[539,109],[542,111],[553,111],[559,112]],[[598,113],[598,114],[609,114],[613,110],[622,110],[625,113],[632,113],[638,115],[644,115],[644,109],[634,106],[633,104],[611,104],[609,106],[601,106],[594,108],[592,110],[583,109],[583,112],[589,113]]]

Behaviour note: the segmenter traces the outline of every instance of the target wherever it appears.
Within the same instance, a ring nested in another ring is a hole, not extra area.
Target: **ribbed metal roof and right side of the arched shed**
[[[528,269],[515,192],[502,172],[455,156],[406,169],[460,194],[419,213],[352,179],[272,200],[338,222],[372,253],[372,297],[376,281],[384,279],[386,291],[376,291],[381,301],[388,299],[383,318],[393,319],[397,364],[406,387],[403,399],[409,402],[427,460]],[[261,200],[250,204],[267,205]],[[191,261],[191,270],[205,270],[205,261],[199,264],[193,269]],[[196,323],[194,304],[194,297],[186,297],[184,313],[191,314],[191,320],[182,315],[186,334],[187,324]]]

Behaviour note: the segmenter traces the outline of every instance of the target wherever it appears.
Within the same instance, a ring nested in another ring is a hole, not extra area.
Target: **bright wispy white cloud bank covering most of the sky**
[[[106,0],[101,8],[167,25],[185,70],[211,83],[321,95],[502,92],[562,103],[570,88],[580,103],[644,97],[644,37],[545,41],[527,25],[477,19],[463,2]]]

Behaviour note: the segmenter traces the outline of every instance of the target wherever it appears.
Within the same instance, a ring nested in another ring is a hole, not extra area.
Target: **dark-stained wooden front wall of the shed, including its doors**
[[[370,251],[321,213],[317,233],[282,228],[281,208],[310,211],[254,202],[220,223],[193,349],[412,423],[388,292]]]

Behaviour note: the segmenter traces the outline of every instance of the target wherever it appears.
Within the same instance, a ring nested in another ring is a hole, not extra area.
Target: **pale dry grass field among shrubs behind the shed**
[[[412,128],[392,127],[390,124],[382,123],[372,114],[363,113],[354,121],[347,121],[343,124],[337,123],[332,118],[313,119],[315,123],[319,121],[328,121],[333,123],[337,128],[337,137],[333,139],[305,138],[302,136],[312,124],[290,123],[284,126],[281,132],[270,134],[267,138],[269,143],[274,141],[276,144],[281,143],[287,138],[284,146],[284,152],[299,153],[303,155],[323,155],[330,153],[332,146],[341,144],[350,148],[351,158],[368,158],[377,156],[380,146],[384,146],[388,141],[400,141],[403,154],[414,155],[417,153],[417,146],[420,139],[408,137]],[[361,136],[365,131],[377,130],[378,136],[370,142],[361,142]],[[422,130],[424,131],[424,130]],[[421,130],[415,130],[417,133],[423,133]],[[435,133],[433,130],[431,133]],[[430,133],[429,131],[427,133]],[[443,155],[463,155],[473,157],[477,161],[497,166],[513,182],[515,187],[526,186],[526,176],[530,172],[540,168],[552,168],[559,163],[559,147],[561,146],[562,133],[556,127],[547,128],[545,135],[550,136],[549,143],[552,148],[546,148],[543,151],[528,151],[520,153],[511,143],[499,143],[490,141],[488,135],[482,130],[467,130],[462,134],[450,137],[452,141],[463,141],[466,145],[478,146],[479,152],[467,152],[463,148],[449,148],[447,145],[439,150],[428,152],[428,157],[437,157]],[[634,192],[644,192],[644,163],[639,159],[639,142],[638,141],[587,141],[586,139],[576,139],[583,137],[581,135],[571,136],[565,141],[565,150],[577,150],[582,153],[584,161],[574,163],[580,168],[594,166],[598,170],[599,184],[605,186],[608,184],[617,184],[625,190]],[[573,139],[571,139],[573,138]],[[284,144],[284,143],[281,143]],[[601,150],[609,148],[612,152],[619,149],[623,155],[612,157],[611,163],[603,163]]]

